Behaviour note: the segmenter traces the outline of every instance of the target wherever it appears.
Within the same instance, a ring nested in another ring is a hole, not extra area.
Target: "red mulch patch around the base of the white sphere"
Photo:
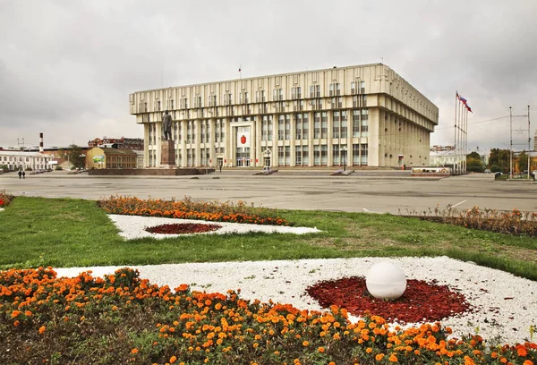
[[[306,293],[323,308],[337,305],[354,316],[369,312],[398,323],[435,322],[472,311],[463,294],[453,292],[447,285],[438,285],[436,281],[407,280],[405,293],[396,301],[372,297],[365,279],[356,276],[320,282],[308,287]]]

